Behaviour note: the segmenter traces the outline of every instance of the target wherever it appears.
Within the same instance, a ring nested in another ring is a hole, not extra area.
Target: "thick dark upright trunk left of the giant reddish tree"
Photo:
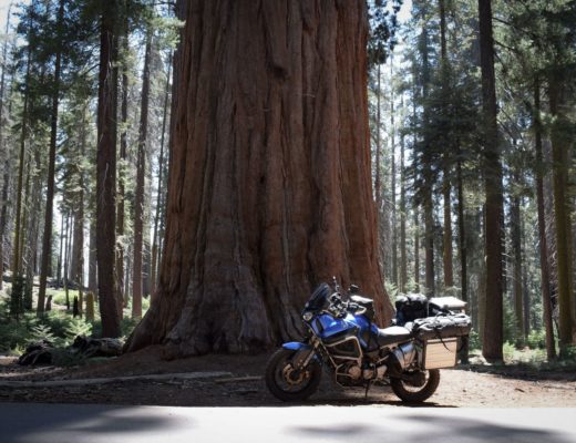
[[[102,336],[120,337],[115,261],[117,1],[102,3],[96,154],[96,260]]]

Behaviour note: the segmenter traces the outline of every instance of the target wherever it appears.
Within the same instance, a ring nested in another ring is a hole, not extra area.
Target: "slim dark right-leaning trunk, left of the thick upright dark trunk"
[[[60,30],[64,20],[64,0],[60,0],[58,9],[56,30]],[[54,172],[56,162],[56,135],[58,135],[58,104],[60,95],[60,64],[62,60],[62,44],[56,42],[56,60],[54,63],[54,84],[52,92],[52,115],[50,123],[50,150],[48,154],[48,185],[47,185],[47,209],[44,214],[44,236],[42,240],[42,264],[40,269],[40,289],[38,291],[37,316],[44,315],[44,301],[47,296],[48,264],[52,255],[52,217],[54,207]]]

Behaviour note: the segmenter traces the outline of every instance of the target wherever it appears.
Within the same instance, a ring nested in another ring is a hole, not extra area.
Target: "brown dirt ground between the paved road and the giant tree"
[[[111,403],[178,406],[281,405],[265,385],[268,354],[204,356],[165,361],[158,348],[92,362],[78,368],[22,368],[13,358],[0,358],[0,384],[7,381],[49,381],[117,378],[142,374],[227,372],[210,379],[128,380],[102,384],[59,387],[0,385],[0,401],[53,403]],[[6,383],[4,383],[6,384]],[[400,405],[389,387],[342,389],[327,373],[319,391],[306,404]],[[531,372],[517,367],[465,365],[441,371],[430,406],[575,408],[576,373]]]

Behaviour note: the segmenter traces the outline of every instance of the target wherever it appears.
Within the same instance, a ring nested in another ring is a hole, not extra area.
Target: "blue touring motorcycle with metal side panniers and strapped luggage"
[[[455,300],[455,302],[454,302]],[[281,401],[304,401],[320,384],[322,368],[344,388],[389,384],[404,402],[423,402],[440,383],[440,369],[456,365],[471,321],[453,297],[397,300],[393,324],[373,322],[373,300],[321,284],[306,303],[301,342],[284,343],[268,361],[266,384]]]

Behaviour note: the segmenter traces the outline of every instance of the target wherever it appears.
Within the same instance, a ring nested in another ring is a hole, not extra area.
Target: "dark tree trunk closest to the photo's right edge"
[[[572,337],[572,254],[569,245],[570,213],[566,195],[568,177],[568,150],[572,135],[569,123],[564,114],[564,80],[557,72],[548,76],[548,99],[554,123],[551,128],[553,181],[554,181],[554,224],[556,227],[556,266],[558,279],[560,354],[573,343]]]

